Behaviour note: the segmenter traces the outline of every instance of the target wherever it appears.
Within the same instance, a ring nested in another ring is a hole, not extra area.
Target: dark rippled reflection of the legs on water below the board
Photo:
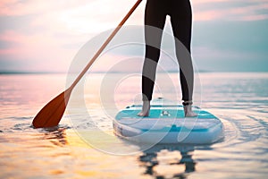
[[[156,145],[139,156],[144,175],[155,178],[186,178],[196,170],[194,146]]]

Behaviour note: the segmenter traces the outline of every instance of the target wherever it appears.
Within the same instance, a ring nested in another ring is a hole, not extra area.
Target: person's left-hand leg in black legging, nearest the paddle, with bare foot
[[[165,22],[163,1],[147,0],[145,11],[146,55],[142,70],[143,107],[138,115],[148,116],[155,85],[155,72],[160,56],[161,38]]]

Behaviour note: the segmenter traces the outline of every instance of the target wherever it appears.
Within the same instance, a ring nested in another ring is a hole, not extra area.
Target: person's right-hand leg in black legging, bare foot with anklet
[[[196,116],[191,110],[194,88],[194,72],[191,59],[192,12],[189,0],[172,1],[172,30],[175,39],[176,55],[180,65],[180,86],[185,116]],[[182,45],[184,46],[181,46]]]

